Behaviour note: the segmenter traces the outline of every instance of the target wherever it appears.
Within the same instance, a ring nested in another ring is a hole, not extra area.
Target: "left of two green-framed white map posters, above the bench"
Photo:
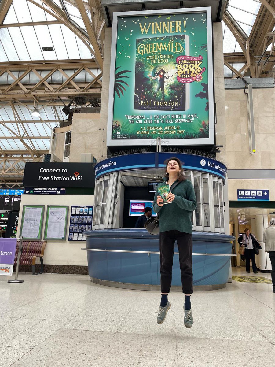
[[[20,236],[24,240],[41,240],[45,205],[24,205]]]

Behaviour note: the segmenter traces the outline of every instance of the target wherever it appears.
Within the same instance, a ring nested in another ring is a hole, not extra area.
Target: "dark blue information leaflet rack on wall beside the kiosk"
[[[69,241],[85,241],[85,237],[83,237],[83,232],[92,230],[93,210],[93,206],[72,206]]]

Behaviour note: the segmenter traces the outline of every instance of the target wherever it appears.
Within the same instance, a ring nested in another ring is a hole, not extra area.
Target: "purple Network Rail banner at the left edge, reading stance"
[[[16,238],[0,238],[0,275],[12,275]]]

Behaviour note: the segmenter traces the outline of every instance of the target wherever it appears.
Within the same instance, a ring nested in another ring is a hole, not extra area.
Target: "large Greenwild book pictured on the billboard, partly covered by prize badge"
[[[189,94],[186,90],[189,88],[177,81],[175,73],[175,55],[186,54],[188,43],[186,34],[136,40],[136,110],[188,109]]]

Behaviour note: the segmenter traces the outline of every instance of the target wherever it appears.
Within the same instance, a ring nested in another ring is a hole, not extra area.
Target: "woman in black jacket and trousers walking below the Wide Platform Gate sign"
[[[258,243],[256,237],[250,233],[250,229],[246,228],[245,233],[241,237],[238,238],[239,245],[245,248],[245,265],[246,272],[250,273],[250,259],[252,262],[253,273],[258,273],[256,262],[255,262],[255,250],[254,248],[260,248],[260,244]]]

